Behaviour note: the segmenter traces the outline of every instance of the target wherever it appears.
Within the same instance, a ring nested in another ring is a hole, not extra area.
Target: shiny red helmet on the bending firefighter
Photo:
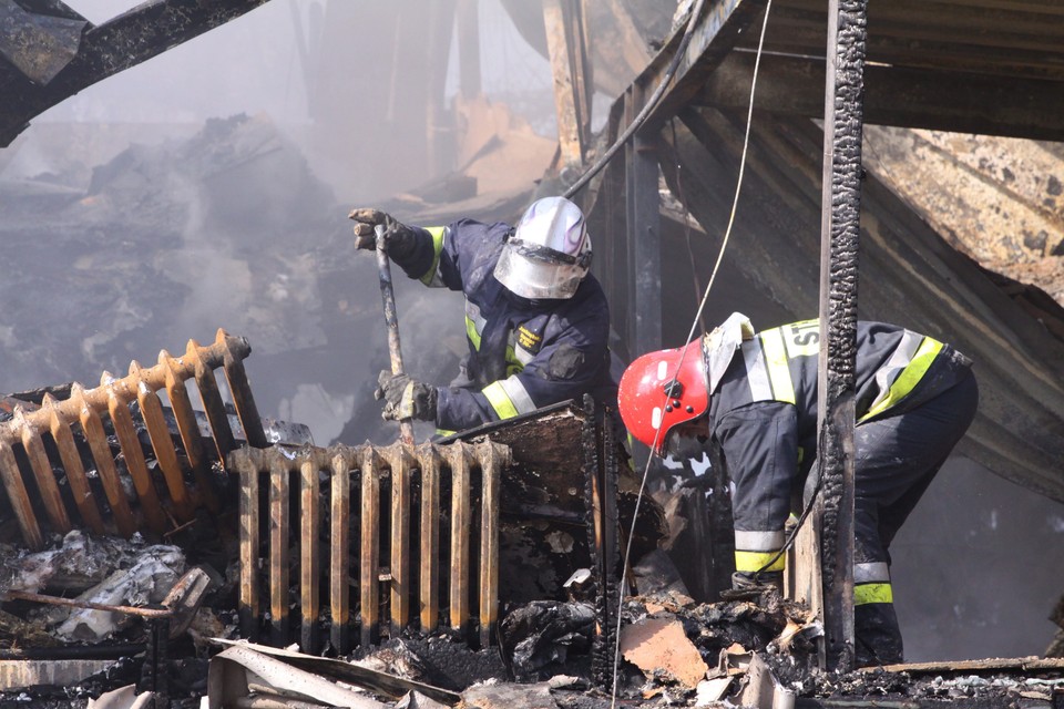
[[[702,338],[632,362],[621,377],[617,403],[628,432],[662,454],[674,427],[694,421],[709,409]]]

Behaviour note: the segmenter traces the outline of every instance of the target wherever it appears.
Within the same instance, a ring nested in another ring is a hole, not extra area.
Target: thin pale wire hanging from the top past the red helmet
[[[687,25],[687,31],[684,34],[685,39],[687,38],[688,34],[690,34],[690,30],[695,24],[695,20],[698,17],[698,12],[702,10],[703,3],[704,3],[704,0],[699,0],[698,6],[692,12],[692,17]],[[709,299],[709,290],[713,288],[713,284],[717,278],[717,271],[720,268],[720,263],[724,260],[724,253],[732,237],[732,228],[735,225],[735,214],[739,204],[739,194],[741,193],[741,189],[743,189],[743,177],[746,174],[746,156],[749,151],[749,144],[750,144],[750,125],[754,122],[754,95],[757,90],[757,75],[760,69],[761,53],[765,47],[765,32],[768,29],[768,16],[771,11],[771,8],[773,8],[773,0],[767,0],[765,3],[765,19],[761,22],[761,33],[757,42],[757,56],[754,60],[754,74],[750,78],[750,101],[749,101],[749,106],[747,109],[746,129],[744,131],[744,136],[743,136],[743,153],[739,157],[739,174],[736,178],[735,196],[732,199],[732,212],[728,215],[728,225],[727,225],[727,228],[725,229],[724,237],[720,240],[720,250],[717,254],[717,260],[713,266],[713,271],[709,274],[709,282],[706,284],[706,290],[703,294],[702,301],[698,304],[698,311],[695,314],[694,320],[690,323],[690,330],[687,332],[687,339],[686,339],[687,343],[690,343],[692,338],[695,335],[695,330],[698,328],[698,321],[702,319],[702,314],[705,310],[706,301]],[[677,51],[677,56],[681,53],[682,53],[681,51]],[[666,82],[662,82],[662,85],[664,85],[665,83]],[[633,124],[635,124],[635,121],[633,121]],[[625,137],[625,140],[627,140],[627,137]],[[583,181],[583,178],[581,179]],[[684,366],[684,357],[686,354],[687,354],[687,349],[685,347],[684,350],[681,352],[679,361],[676,364],[676,374],[673,378],[674,380],[676,379],[676,377],[679,376],[679,372]],[[663,399],[663,402],[662,402],[663,408],[664,408],[664,404],[667,402],[667,399],[668,399],[668,394],[666,393],[665,399]],[[611,709],[615,709],[616,702],[617,702],[617,670],[620,668],[620,662],[621,662],[621,616],[622,616],[621,606],[624,602],[624,589],[625,589],[625,583],[627,582],[626,577],[627,577],[627,571],[628,571],[628,561],[632,555],[632,541],[635,537],[635,523],[638,520],[640,505],[642,504],[643,496],[646,492],[646,481],[647,481],[647,477],[649,476],[651,463],[654,461],[654,456],[657,454],[656,451],[657,451],[658,443],[661,441],[661,436],[662,436],[662,427],[658,427],[654,433],[654,442],[651,444],[651,453],[646,459],[646,466],[643,469],[643,479],[640,482],[640,491],[635,499],[635,506],[632,512],[632,526],[628,532],[627,543],[625,544],[624,557],[622,559],[623,563],[621,564],[621,583],[618,584],[618,589],[617,589],[617,593],[618,593],[617,627],[616,627],[616,633],[614,635],[616,639],[616,646],[614,647],[614,656],[613,656],[613,691],[611,692],[611,703],[610,703]],[[811,504],[810,504],[810,508],[811,508]],[[796,530],[796,533],[797,533],[797,530]]]

